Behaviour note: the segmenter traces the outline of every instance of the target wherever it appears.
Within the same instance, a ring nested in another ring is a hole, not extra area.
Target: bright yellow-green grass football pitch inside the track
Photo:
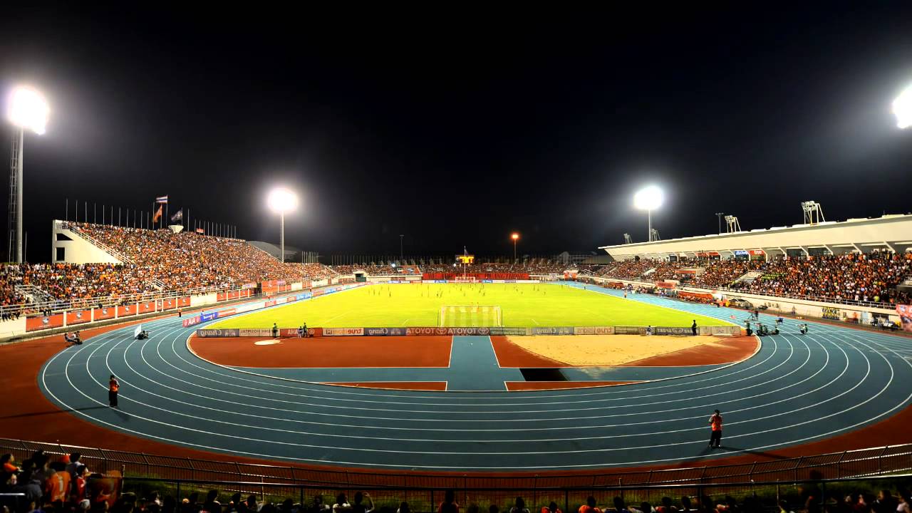
[[[499,306],[503,326],[701,326],[719,319],[665,309],[559,284],[373,285],[225,319],[211,328],[438,326],[440,307]],[[444,316],[447,318],[448,316]],[[449,316],[449,326],[490,326]],[[453,319],[458,319],[454,323]]]

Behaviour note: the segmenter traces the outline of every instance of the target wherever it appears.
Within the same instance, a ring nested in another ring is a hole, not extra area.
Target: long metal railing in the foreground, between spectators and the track
[[[912,471],[912,444],[887,445],[825,455],[776,459],[765,455],[758,461],[736,465],[694,466],[653,470],[605,470],[586,473],[490,474],[371,472],[362,469],[316,469],[304,466],[256,465],[237,461],[214,461],[167,455],[147,455],[97,447],[27,442],[0,438],[0,453],[26,459],[38,449],[54,455],[82,454],[83,463],[94,471],[123,468],[128,476],[212,481],[259,481],[283,485],[333,487],[609,487],[618,483],[645,485],[720,485],[750,481],[800,481],[811,478],[885,476]],[[765,458],[765,459],[762,459]]]

